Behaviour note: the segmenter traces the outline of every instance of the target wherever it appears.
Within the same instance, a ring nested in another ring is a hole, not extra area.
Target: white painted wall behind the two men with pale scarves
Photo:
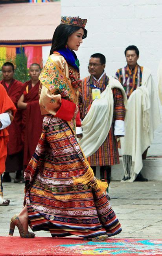
[[[106,56],[106,72],[114,75],[126,64],[124,50],[136,45],[140,51],[139,65],[156,73],[162,58],[162,0],[61,0],[61,15],[88,19],[88,36],[77,53],[81,78],[88,75],[91,54]],[[160,106],[162,113],[162,106]],[[162,156],[162,124],[148,155]]]

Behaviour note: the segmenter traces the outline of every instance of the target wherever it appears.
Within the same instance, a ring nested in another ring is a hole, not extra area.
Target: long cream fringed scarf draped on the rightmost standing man
[[[127,176],[127,165],[131,165],[130,179],[133,182],[140,173],[143,163],[142,154],[151,145],[154,131],[160,124],[160,111],[156,87],[147,68],[142,72],[142,86],[138,87],[128,100],[128,111],[125,116],[125,137],[120,138],[122,155],[125,158],[124,171]],[[131,156],[131,161],[130,161]]]

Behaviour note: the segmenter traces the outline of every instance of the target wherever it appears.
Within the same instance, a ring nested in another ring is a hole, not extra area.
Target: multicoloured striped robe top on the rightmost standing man
[[[127,98],[129,98],[137,87],[142,85],[142,71],[143,67],[140,67],[138,64],[133,70],[128,65],[117,70],[116,78],[122,83]]]

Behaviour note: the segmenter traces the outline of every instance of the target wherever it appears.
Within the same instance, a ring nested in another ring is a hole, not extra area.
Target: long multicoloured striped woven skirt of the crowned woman
[[[95,186],[76,184],[88,166],[68,124],[46,115],[42,135],[25,171],[25,202],[33,231],[52,237],[114,236],[122,231],[105,197]]]

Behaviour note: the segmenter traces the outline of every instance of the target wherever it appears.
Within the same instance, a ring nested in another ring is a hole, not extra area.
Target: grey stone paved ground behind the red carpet
[[[116,238],[162,238],[162,182],[111,182],[110,203],[123,232]],[[11,200],[9,206],[0,206],[0,236],[7,236],[11,217],[22,208],[24,184],[4,183],[4,196]],[[15,230],[18,236],[18,230]],[[36,236],[49,236],[39,231]]]

